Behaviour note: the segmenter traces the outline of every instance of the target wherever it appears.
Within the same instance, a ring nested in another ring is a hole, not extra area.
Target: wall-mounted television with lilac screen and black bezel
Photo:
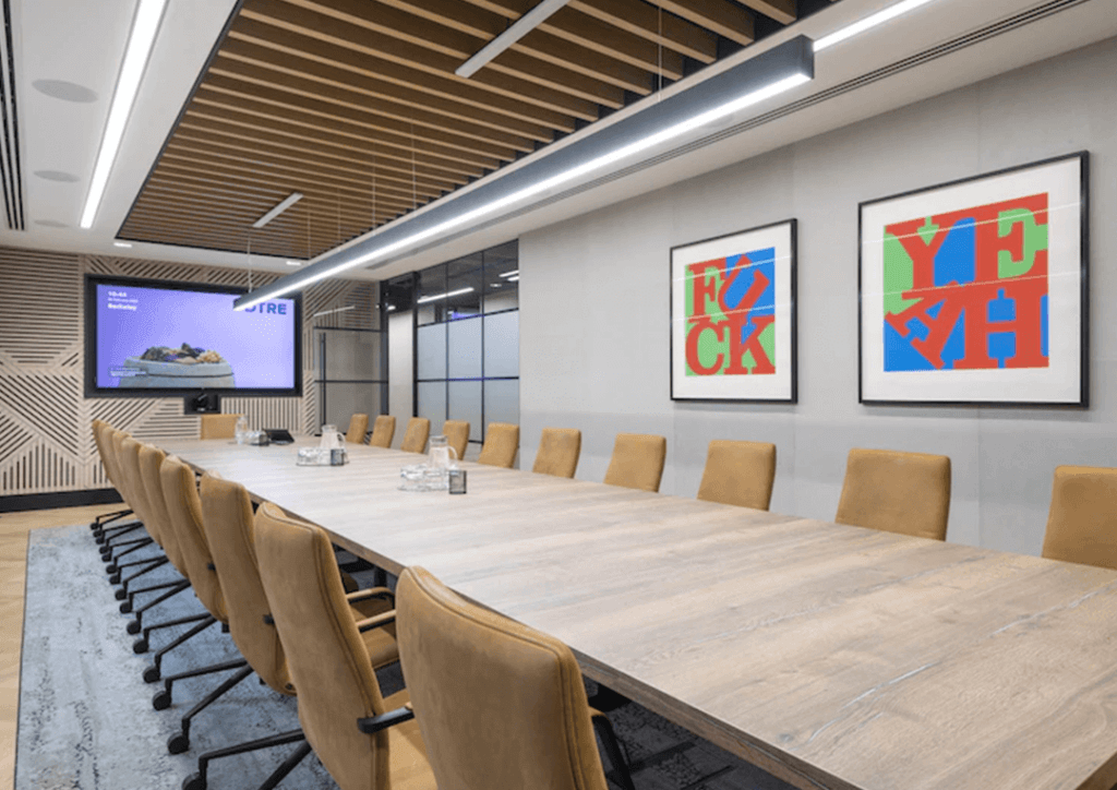
[[[86,396],[300,396],[302,299],[235,311],[244,293],[86,277]]]

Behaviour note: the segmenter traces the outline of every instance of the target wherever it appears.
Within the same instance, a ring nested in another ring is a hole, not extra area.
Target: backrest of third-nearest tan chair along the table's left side
[[[280,694],[294,694],[279,632],[266,622],[271,613],[252,545],[252,503],[239,483],[216,472],[202,477],[202,527],[213,554],[217,578],[225,594],[229,636],[265,683]]]

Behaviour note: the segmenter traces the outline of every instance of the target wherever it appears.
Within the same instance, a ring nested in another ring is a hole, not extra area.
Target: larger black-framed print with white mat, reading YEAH
[[[861,203],[862,403],[1087,404],[1087,165]]]

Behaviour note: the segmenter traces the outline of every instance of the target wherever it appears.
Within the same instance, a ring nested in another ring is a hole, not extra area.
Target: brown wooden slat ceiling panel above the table
[[[246,0],[118,237],[311,258],[828,4],[570,0],[454,74],[535,2]]]

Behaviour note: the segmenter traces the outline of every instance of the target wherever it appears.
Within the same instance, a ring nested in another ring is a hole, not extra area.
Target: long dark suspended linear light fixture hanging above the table
[[[631,165],[638,154],[677,141],[703,126],[728,118],[814,77],[811,39],[798,36],[737,64],[689,91],[661,99],[596,134],[572,142],[535,162],[483,183],[460,197],[433,204],[419,216],[392,222],[346,249],[327,255],[269,285],[239,297],[236,310],[300,291],[326,277],[371,264],[385,265],[429,239],[491,218],[514,206],[523,207],[562,187],[610,165]]]

